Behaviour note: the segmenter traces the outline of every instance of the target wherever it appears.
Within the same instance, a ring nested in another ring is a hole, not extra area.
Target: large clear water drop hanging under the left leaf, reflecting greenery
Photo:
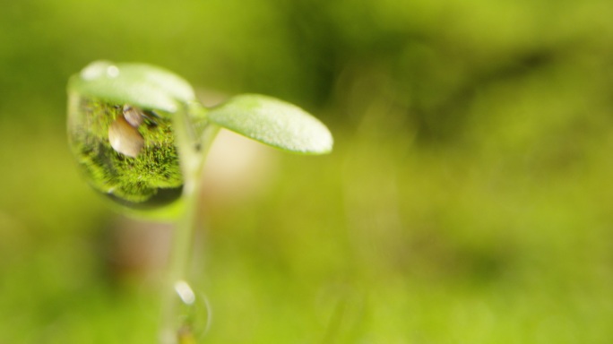
[[[79,94],[69,95],[68,112],[73,154],[94,189],[139,210],[180,197],[183,176],[170,114]]]

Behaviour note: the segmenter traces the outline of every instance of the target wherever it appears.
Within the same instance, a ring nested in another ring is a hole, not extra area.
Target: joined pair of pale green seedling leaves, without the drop
[[[206,119],[281,150],[305,154],[332,150],[328,128],[299,107],[250,94],[231,98],[208,112],[197,104],[187,82],[149,64],[94,62],[71,78],[68,91],[109,104],[130,104],[169,113],[187,111],[194,123]]]

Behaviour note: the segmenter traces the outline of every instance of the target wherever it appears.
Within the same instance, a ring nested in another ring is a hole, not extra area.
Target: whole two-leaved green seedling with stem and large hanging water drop
[[[220,128],[280,150],[324,154],[332,134],[279,99],[239,95],[204,107],[191,85],[149,64],[98,61],[68,82],[68,138],[88,183],[131,215],[174,219],[160,343],[191,343],[194,291],[186,276],[206,153]]]

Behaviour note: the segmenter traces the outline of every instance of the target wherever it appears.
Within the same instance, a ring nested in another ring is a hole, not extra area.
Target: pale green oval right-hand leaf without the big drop
[[[303,154],[332,150],[332,134],[323,123],[280,99],[239,95],[212,107],[207,116],[216,125],[281,150]]]

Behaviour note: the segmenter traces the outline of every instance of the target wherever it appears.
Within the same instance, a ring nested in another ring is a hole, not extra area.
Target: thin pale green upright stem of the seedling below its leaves
[[[206,153],[219,126],[206,125],[203,133],[194,133],[192,119],[205,115],[199,104],[190,104],[175,116],[175,136],[184,177],[183,212],[177,219],[169,254],[168,276],[162,296],[160,343],[193,343],[194,292],[189,286],[189,265],[194,249],[194,232],[198,219],[198,190]]]

